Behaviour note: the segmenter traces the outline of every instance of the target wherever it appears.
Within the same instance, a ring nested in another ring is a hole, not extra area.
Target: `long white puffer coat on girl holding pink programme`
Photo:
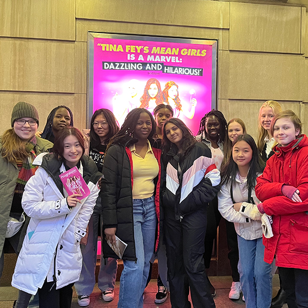
[[[48,157],[54,163],[52,154],[47,154]],[[39,155],[33,164],[41,166],[44,159]],[[86,234],[98,198],[97,180],[101,176],[91,159],[84,156],[81,161],[79,171],[84,176],[86,169],[88,173],[94,170],[95,183],[91,178],[87,183],[91,194],[75,207],[67,206],[66,191],[59,190],[55,183],[57,175],[53,177],[46,168],[39,167],[25,187],[22,205],[31,220],[12,279],[12,286],[19,290],[34,295],[46,278],[48,282],[56,282],[57,289],[79,280],[82,268],[79,243]],[[60,172],[66,171],[63,164],[60,166]]]

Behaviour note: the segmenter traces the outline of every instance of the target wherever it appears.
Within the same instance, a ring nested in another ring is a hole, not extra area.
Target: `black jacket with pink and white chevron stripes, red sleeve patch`
[[[163,206],[175,211],[177,220],[201,207],[207,207],[219,191],[220,172],[211,158],[210,149],[196,142],[188,155],[180,160],[178,148],[172,145],[163,184]]]

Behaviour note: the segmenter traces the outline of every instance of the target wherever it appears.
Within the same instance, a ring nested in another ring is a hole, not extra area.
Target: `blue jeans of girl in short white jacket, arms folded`
[[[246,308],[269,308],[272,301],[272,265],[264,262],[262,238],[245,240],[238,235],[240,283]]]

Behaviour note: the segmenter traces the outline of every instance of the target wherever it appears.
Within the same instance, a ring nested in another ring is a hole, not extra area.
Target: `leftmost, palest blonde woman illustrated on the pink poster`
[[[113,114],[120,126],[129,111],[140,107],[140,88],[140,81],[132,79],[125,85],[123,94],[117,92],[112,98]]]

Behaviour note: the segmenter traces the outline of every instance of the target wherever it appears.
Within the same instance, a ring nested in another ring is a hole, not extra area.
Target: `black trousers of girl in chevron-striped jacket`
[[[204,266],[206,209],[175,219],[174,210],[164,211],[164,235],[172,308],[214,308]]]

